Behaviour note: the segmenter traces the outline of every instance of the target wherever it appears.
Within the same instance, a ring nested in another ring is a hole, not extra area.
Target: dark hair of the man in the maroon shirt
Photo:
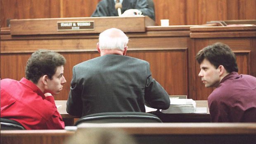
[[[216,68],[223,65],[229,73],[238,72],[235,53],[226,44],[218,42],[201,49],[197,53],[196,60],[201,64],[204,59],[209,60]]]

